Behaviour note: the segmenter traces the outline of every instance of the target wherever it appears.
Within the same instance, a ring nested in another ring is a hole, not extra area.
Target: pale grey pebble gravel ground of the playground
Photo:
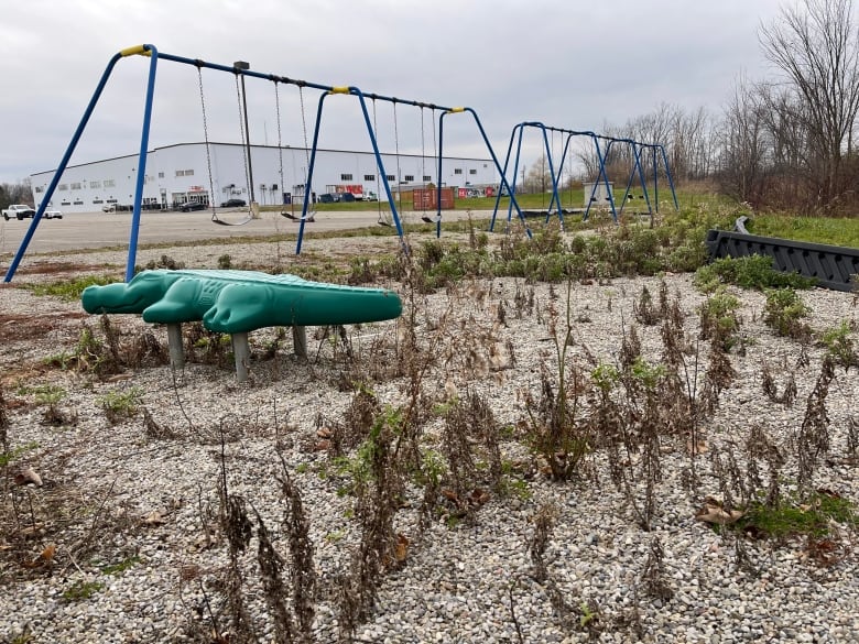
[[[392,243],[315,241],[314,251],[371,253]],[[168,254],[188,266],[217,268],[225,253],[233,263],[247,258],[289,268],[291,261],[267,243],[142,251],[138,261]],[[35,296],[23,286],[77,275],[86,266],[104,272],[123,261],[118,252],[39,256],[22,266],[12,286],[0,287],[1,391],[13,455],[3,470],[0,505],[0,642],[237,641],[228,636],[229,619],[219,612],[219,580],[229,561],[226,538],[216,527],[221,461],[230,492],[252,504],[274,547],[287,556],[279,450],[309,520],[319,578],[313,636],[337,641],[335,581],[348,571],[360,534],[352,498],[341,490],[345,479],[320,443],[326,428],[342,421],[352,397],[342,383],[356,368],[347,365],[342,345],[312,330],[311,358],[298,360],[291,354],[289,334],[283,339],[272,329],[251,335],[255,359],[242,384],[228,364],[198,360],[182,373],[144,363],[107,380],[46,367],[47,358],[62,364],[83,325],[97,330],[98,319],[83,314],[79,303]],[[691,275],[670,275],[665,282],[671,297],[679,298],[687,337],[694,340],[703,296]],[[820,372],[823,349],[812,343],[803,350],[794,340],[775,337],[762,323],[762,294],[733,291],[742,303],[748,341],[743,356],[731,353],[736,381],[704,424],[700,483],[695,491],[684,485],[685,438],[666,437],[655,516],[645,532],[628,498],[612,484],[605,455],[592,456],[591,478],[552,482],[541,476],[518,434],[529,395],[540,394],[541,368],[556,373],[548,320],[553,307],[565,310],[566,286],[536,285],[530,306],[531,287],[514,280],[464,283],[414,301],[401,284],[382,285],[399,291],[407,308],[413,303],[418,341],[438,358],[423,380],[427,407],[449,402],[455,391],[479,393],[509,428],[501,447],[513,467],[505,493],[490,493],[470,517],[434,517],[423,531],[422,491],[406,489],[394,524],[409,539],[404,560],[381,579],[376,608],[355,641],[859,641],[851,531],[831,527],[839,535],[836,550],[830,565],[822,565],[809,556],[805,539],[738,541],[695,519],[706,496],[721,495],[710,455],[733,454],[744,467],[740,446],[754,425],[785,457],[783,489],[790,491],[796,480],[792,438]],[[655,295],[660,280],[575,284],[570,353],[579,361],[589,353],[616,362],[643,286]],[[814,290],[802,297],[812,308],[814,329],[842,320],[856,328],[852,295]],[[115,316],[111,324],[123,338],[151,331],[166,342],[164,329],[151,329],[137,317]],[[402,320],[348,329],[355,363],[391,368],[400,359],[392,347],[407,331]],[[643,353],[659,360],[659,325],[638,331]],[[273,347],[274,357],[265,357]],[[807,364],[798,360],[803,351]],[[763,394],[764,363],[780,390],[793,373],[793,406]],[[65,392],[56,402],[59,425],[45,421],[47,384]],[[370,386],[382,405],[407,402],[409,383],[402,378]],[[139,393],[139,413],[109,422],[105,396],[128,392]],[[847,458],[848,427],[858,397],[856,368],[838,370],[826,400],[830,449],[814,481],[852,501],[859,500],[859,482],[856,463]],[[154,425],[145,423],[143,408]],[[425,429],[426,444],[436,449],[441,426],[434,417]],[[15,484],[15,474],[28,468],[42,485]],[[555,522],[544,553],[547,578],[541,580],[529,546],[535,516],[546,506]],[[661,580],[670,590],[661,598],[646,592],[644,581],[655,539],[664,550]],[[255,552],[254,537],[240,557],[247,608],[260,641],[274,642]]]

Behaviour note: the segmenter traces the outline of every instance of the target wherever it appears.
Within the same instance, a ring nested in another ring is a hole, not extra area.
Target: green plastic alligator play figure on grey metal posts
[[[307,326],[394,319],[400,297],[385,288],[308,282],[296,275],[258,271],[143,271],[131,282],[89,286],[81,296],[91,314],[142,314],[167,326],[171,363],[184,365],[182,323],[202,321],[230,334],[239,382],[248,376],[248,334],[264,327],[292,327],[295,352],[306,356]]]

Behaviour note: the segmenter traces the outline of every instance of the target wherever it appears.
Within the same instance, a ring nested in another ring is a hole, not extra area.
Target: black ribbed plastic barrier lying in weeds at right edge
[[[707,232],[707,249],[713,259],[768,255],[773,268],[784,273],[816,277],[819,286],[851,291],[851,279],[859,274],[859,249],[791,239],[758,237],[730,230]]]

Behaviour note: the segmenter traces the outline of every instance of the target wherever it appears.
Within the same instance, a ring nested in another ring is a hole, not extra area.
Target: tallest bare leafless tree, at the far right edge
[[[852,17],[852,0],[803,0],[759,31],[764,55],[784,75],[781,91],[769,94],[775,99],[769,107],[778,156],[802,161],[816,192],[812,197],[824,209],[849,185],[844,161],[852,153],[859,112],[859,32]]]

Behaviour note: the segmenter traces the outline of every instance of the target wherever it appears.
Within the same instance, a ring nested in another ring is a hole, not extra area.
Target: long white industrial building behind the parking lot
[[[187,201],[220,205],[228,199],[250,199],[247,148],[237,143],[177,143],[146,154],[142,204],[146,209],[170,210]],[[253,197],[262,206],[301,200],[307,174],[308,151],[304,148],[250,146]],[[48,206],[64,212],[99,211],[109,206],[129,208],[137,184],[138,154],[68,166]],[[411,154],[382,154],[391,189],[438,185],[437,159]],[[211,172],[209,172],[209,165]],[[399,167],[399,175],[398,174]],[[55,171],[31,176],[36,206]],[[314,197],[335,192],[335,186],[360,185],[382,200],[376,156],[371,152],[317,150],[314,164]],[[498,185],[499,174],[489,159],[445,157],[442,186]]]

